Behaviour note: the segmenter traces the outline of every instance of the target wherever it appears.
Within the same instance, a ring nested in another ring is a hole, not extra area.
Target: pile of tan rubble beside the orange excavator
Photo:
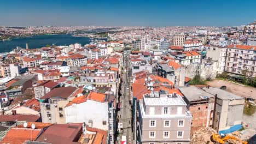
[[[211,136],[212,134],[217,133],[216,130],[212,129],[212,128],[202,128],[198,131],[196,131],[196,133],[194,133],[190,138],[191,144],[212,144],[214,142],[211,141]]]

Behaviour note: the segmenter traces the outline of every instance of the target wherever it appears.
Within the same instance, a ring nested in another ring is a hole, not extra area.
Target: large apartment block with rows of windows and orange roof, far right
[[[256,76],[256,46],[230,45],[226,52],[225,71]]]

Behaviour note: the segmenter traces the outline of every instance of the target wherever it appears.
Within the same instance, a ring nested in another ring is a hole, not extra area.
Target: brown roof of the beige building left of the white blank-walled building
[[[48,99],[53,97],[68,98],[77,88],[75,87],[58,87],[46,93],[41,99]]]

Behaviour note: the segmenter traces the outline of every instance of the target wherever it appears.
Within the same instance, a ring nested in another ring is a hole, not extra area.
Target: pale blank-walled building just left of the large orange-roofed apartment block
[[[217,73],[220,74],[225,70],[225,62],[226,62],[226,47],[216,47],[210,46],[207,49],[206,58],[211,59],[213,61],[217,61]]]

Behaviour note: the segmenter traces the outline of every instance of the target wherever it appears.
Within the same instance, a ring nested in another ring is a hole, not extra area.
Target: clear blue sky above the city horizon
[[[255,0],[3,0],[0,26],[240,26],[255,10]]]

